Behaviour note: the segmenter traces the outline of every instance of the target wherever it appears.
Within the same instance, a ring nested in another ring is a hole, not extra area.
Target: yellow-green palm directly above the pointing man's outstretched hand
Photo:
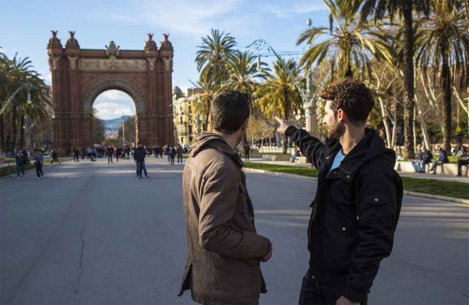
[[[255,93],[258,98],[258,107],[266,117],[274,115],[283,116],[286,120],[293,113],[304,114],[301,94],[295,86],[295,81],[290,77],[298,77],[299,71],[296,62],[290,58],[285,62],[283,58],[274,63],[275,76],[270,76],[262,82]],[[283,136],[283,153],[287,152],[287,137]]]

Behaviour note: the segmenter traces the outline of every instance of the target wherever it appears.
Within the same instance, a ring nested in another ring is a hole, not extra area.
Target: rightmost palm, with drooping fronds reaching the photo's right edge
[[[417,62],[426,72],[432,67],[440,70],[443,90],[443,145],[450,151],[451,85],[459,78],[459,85],[468,86],[469,34],[465,19],[467,7],[462,0],[432,0],[431,14],[419,28]]]

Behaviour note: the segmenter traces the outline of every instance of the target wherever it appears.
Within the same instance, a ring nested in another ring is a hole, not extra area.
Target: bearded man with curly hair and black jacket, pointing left
[[[365,128],[374,106],[359,80],[346,78],[321,92],[326,100],[324,143],[276,117],[319,171],[308,226],[309,268],[299,304],[367,304],[380,262],[389,256],[403,187],[396,153],[377,131]]]

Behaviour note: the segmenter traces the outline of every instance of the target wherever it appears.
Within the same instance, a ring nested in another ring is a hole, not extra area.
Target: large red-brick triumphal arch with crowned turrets
[[[82,49],[70,31],[65,47],[57,31],[47,44],[52,74],[54,147],[65,152],[73,147],[92,147],[93,102],[102,92],[121,90],[133,99],[137,110],[137,139],[144,145],[172,143],[173,48],[164,34],[160,47],[153,34],[143,50],[120,50],[114,41],[106,49]]]

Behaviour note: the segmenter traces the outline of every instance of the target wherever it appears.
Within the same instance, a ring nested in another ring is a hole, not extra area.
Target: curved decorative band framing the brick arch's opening
[[[135,108],[137,110],[136,112],[145,112],[145,100],[140,90],[138,90],[127,80],[117,77],[110,77],[96,82],[88,89],[88,92],[86,92],[86,95],[83,99],[83,111],[85,112],[85,114],[93,114],[92,105],[96,97],[98,97],[98,95],[100,95],[104,91],[111,89],[120,89],[126,92],[134,100]]]

